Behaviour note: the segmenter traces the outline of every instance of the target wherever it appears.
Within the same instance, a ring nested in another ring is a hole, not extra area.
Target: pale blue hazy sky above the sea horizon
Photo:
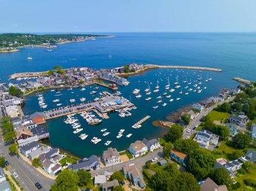
[[[255,0],[0,0],[0,32],[256,32]]]

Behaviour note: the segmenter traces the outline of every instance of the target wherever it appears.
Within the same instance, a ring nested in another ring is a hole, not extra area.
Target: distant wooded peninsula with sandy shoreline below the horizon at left
[[[0,34],[0,52],[18,52],[18,48],[38,47],[57,48],[55,44],[69,42],[84,42],[95,38],[110,38],[113,36],[95,34]]]

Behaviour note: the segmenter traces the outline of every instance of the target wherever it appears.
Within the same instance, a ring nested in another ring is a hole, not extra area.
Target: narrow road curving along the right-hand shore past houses
[[[231,98],[228,98],[227,100],[224,100],[224,102],[218,102],[217,104],[214,104],[214,106],[211,106],[209,108],[206,108],[205,110],[203,110],[200,114],[198,114],[193,120],[191,120],[191,122],[189,123],[189,125],[184,129],[183,132],[183,139],[186,139],[186,137],[191,137],[191,135],[193,135],[195,132],[197,132],[197,130],[193,130],[195,125],[200,124],[200,119],[209,114],[212,110],[214,110],[214,108],[217,108],[218,105],[224,104],[226,102],[231,102],[232,100],[234,100],[234,96]],[[187,132],[187,129],[190,128],[190,132]]]

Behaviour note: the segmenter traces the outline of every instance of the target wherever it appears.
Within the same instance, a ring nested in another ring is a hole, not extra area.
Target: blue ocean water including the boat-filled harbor
[[[100,155],[107,147],[106,141],[112,141],[109,147],[116,147],[122,151],[129,147],[129,144],[144,137],[152,139],[160,137],[166,132],[164,128],[152,125],[154,120],[165,120],[168,114],[189,106],[194,102],[205,100],[211,96],[218,95],[221,89],[236,87],[238,83],[232,77],[242,77],[255,81],[256,73],[256,34],[254,33],[117,33],[115,38],[98,38],[86,42],[75,42],[68,44],[58,44],[52,52],[45,51],[46,48],[22,48],[20,52],[0,54],[0,78],[1,83],[9,83],[9,75],[26,71],[46,71],[53,69],[54,66],[61,65],[69,67],[90,67],[93,69],[113,68],[130,63],[156,64],[156,65],[185,65],[198,67],[216,67],[223,71],[220,73],[209,71],[194,70],[171,70],[157,69],[147,71],[140,75],[128,77],[131,83],[127,87],[119,87],[123,97],[131,100],[137,107],[131,110],[132,115],[127,118],[120,118],[118,113],[109,114],[110,118],[103,120],[98,126],[90,126],[86,121],[77,115],[79,122],[84,128],[83,133],[88,134],[84,141],[78,135],[72,133],[70,125],[63,122],[64,118],[58,118],[47,122],[46,128],[50,132],[49,143],[53,147],[59,147],[81,157],[89,157],[92,154]],[[111,55],[111,56],[109,56]],[[32,61],[27,57],[32,56]],[[162,93],[170,80],[170,88],[174,88],[173,83],[179,76],[180,82],[183,77],[191,79],[193,82],[201,75],[203,79],[202,87],[207,87],[201,93],[187,92],[185,84],[182,84],[183,94],[179,91],[169,93],[173,102],[165,98]],[[204,79],[212,77],[212,81],[204,83]],[[159,81],[159,93],[152,93],[152,100],[145,101],[146,93],[144,89],[150,84],[153,90],[156,82]],[[64,105],[70,104],[70,99],[75,99],[79,103],[79,98],[92,100],[95,97],[90,95],[92,87],[86,87],[86,91],[73,89],[73,93],[63,90],[58,99]],[[133,89],[141,89],[141,98],[135,98],[132,94]],[[100,91],[109,91],[100,87]],[[162,95],[162,104],[157,104],[156,97]],[[55,108],[56,104],[52,101],[57,99],[54,91],[44,92],[44,98],[49,108]],[[176,100],[181,98],[181,100]],[[159,108],[154,110],[153,106]],[[36,95],[26,98],[25,114],[32,114],[41,111]],[[151,118],[143,123],[139,129],[131,128],[135,122],[141,120],[146,115]],[[102,128],[107,128],[110,135],[102,137]],[[117,139],[119,130],[125,129],[124,136]],[[132,133],[128,139],[125,135]],[[92,137],[102,139],[97,145],[92,145]]]

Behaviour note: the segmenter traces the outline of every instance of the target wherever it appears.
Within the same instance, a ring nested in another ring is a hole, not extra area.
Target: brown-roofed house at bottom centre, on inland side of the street
[[[141,167],[137,167],[135,165],[125,165],[123,166],[123,174],[126,179],[130,180],[134,185],[139,186],[140,188],[144,188],[146,186]]]

